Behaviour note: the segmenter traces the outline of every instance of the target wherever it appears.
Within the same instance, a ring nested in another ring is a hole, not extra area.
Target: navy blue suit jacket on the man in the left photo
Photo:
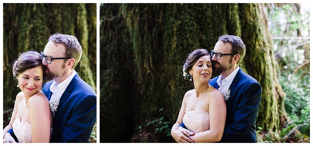
[[[53,80],[44,84],[43,92],[50,100],[50,86]],[[50,143],[87,143],[96,122],[97,96],[95,90],[80,78],[78,73],[71,80],[60,98],[53,118],[53,132]],[[16,139],[13,129],[8,131]]]

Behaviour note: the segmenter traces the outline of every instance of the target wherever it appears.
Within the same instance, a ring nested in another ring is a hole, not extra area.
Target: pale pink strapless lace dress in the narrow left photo
[[[19,143],[32,143],[32,130],[28,122],[21,122],[19,118],[15,118],[13,125],[13,131],[15,136],[18,138]],[[50,139],[53,129],[50,128]]]

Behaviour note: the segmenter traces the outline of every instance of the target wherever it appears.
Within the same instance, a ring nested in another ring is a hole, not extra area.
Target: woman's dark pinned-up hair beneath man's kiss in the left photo
[[[23,72],[38,67],[44,71],[44,66],[42,65],[42,60],[40,53],[37,51],[27,51],[18,54],[18,58],[12,64],[12,71],[14,79]]]

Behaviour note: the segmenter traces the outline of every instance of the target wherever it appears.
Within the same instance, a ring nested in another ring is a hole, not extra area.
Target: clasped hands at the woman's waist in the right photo
[[[187,136],[194,135],[195,133],[189,131],[188,129],[184,129],[181,126],[178,129],[172,129],[171,135],[177,141],[177,143],[193,143],[191,139]]]

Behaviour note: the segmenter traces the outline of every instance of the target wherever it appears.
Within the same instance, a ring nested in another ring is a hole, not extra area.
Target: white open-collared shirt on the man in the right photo
[[[233,79],[235,78],[238,71],[239,71],[239,66],[237,66],[237,68],[230,75],[228,75],[225,79],[223,79],[223,76],[220,75],[217,79],[217,84],[219,86],[218,90],[221,91],[222,93],[224,91],[227,91],[230,85],[232,84]]]

